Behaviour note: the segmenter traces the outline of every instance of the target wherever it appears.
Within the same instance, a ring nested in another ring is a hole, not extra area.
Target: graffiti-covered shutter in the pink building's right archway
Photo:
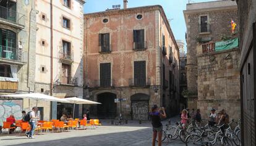
[[[148,101],[132,102],[132,118],[133,120],[148,120]]]

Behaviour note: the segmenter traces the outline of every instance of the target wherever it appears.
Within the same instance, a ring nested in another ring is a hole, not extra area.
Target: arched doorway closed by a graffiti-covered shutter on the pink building
[[[134,94],[130,97],[132,104],[132,120],[148,120],[149,95]]]

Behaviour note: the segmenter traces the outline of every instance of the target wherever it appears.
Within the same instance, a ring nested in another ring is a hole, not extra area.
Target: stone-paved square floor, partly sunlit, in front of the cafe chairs
[[[74,130],[60,133],[47,133],[35,135],[35,139],[28,139],[22,134],[1,134],[0,145],[151,145],[151,125],[145,121],[139,124],[138,121],[129,121],[129,124],[114,126],[109,121],[103,121],[103,126],[96,129]],[[181,140],[163,142],[163,145],[185,145]]]

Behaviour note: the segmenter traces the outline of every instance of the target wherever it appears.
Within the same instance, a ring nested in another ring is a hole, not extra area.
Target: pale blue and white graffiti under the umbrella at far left
[[[0,125],[11,114],[15,120],[22,119],[22,100],[0,100]]]

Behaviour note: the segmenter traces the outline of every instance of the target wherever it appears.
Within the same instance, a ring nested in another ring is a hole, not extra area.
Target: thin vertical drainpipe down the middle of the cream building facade
[[[51,69],[50,69],[50,95],[53,95],[53,0],[50,1],[50,12],[51,12],[51,18],[50,18],[50,22],[51,22]],[[49,113],[49,117],[52,118],[52,108],[53,108],[53,103],[50,102],[50,113]]]

